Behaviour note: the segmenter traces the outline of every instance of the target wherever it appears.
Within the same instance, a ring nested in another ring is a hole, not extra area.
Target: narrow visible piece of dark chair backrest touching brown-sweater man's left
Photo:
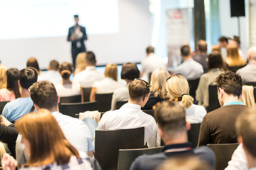
[[[198,145],[198,136],[201,128],[201,123],[191,124],[191,129],[188,130],[188,141],[192,143],[192,147],[196,148]]]

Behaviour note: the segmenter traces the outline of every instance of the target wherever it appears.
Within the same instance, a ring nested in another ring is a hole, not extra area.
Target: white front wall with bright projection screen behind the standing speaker
[[[71,62],[68,28],[74,14],[85,26],[87,50],[97,64],[140,62],[151,42],[148,0],[0,1],[0,60],[6,67],[26,67],[36,57],[41,69],[50,60]]]

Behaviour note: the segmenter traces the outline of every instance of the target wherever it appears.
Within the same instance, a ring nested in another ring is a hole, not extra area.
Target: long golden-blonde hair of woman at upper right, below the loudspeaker
[[[227,52],[228,56],[225,62],[230,67],[245,65],[245,60],[243,60],[242,57],[240,57],[238,47],[236,45],[229,44],[227,46]]]

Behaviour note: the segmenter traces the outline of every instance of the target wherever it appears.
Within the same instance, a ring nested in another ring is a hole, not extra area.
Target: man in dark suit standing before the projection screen
[[[87,40],[85,27],[78,24],[79,18],[78,15],[74,16],[75,26],[72,26],[68,30],[68,41],[72,42],[71,53],[73,65],[75,67],[75,58],[79,52],[85,52],[85,43],[84,40]]]

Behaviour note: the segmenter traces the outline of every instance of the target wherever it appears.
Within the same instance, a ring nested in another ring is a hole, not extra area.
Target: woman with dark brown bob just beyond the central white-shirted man
[[[112,111],[116,109],[117,101],[128,101],[128,86],[134,79],[137,78],[139,78],[139,69],[135,63],[127,62],[122,65],[121,79],[124,79],[124,81],[127,82],[127,86],[122,86],[114,91],[111,103]]]

